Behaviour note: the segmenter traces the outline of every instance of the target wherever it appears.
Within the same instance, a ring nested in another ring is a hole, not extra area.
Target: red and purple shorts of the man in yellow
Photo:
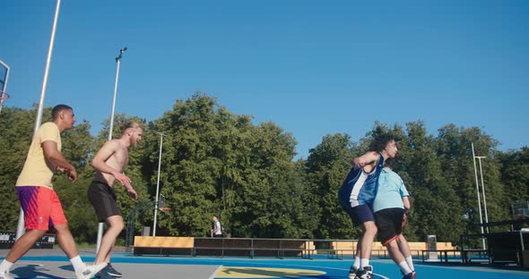
[[[24,211],[26,230],[48,231],[56,224],[68,222],[55,190],[41,186],[22,186],[17,187],[16,192]]]

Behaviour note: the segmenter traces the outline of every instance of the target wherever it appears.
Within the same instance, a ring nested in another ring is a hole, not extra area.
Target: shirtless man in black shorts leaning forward
[[[88,188],[88,199],[95,208],[100,222],[104,221],[108,224],[95,259],[95,264],[108,263],[107,267],[97,275],[99,278],[122,276],[110,265],[114,242],[124,227],[113,187],[114,182],[120,182],[125,186],[131,199],[138,198],[130,179],[123,171],[128,164],[128,148],[134,147],[142,139],[142,135],[143,130],[138,123],[127,123],[121,138],[108,140],[91,161],[91,166],[96,169],[96,175]]]

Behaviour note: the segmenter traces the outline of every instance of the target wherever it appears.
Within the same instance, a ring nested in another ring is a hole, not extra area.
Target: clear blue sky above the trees
[[[2,0],[4,106],[39,102],[55,7]],[[290,131],[299,157],[377,120],[528,145],[529,1],[63,0],[45,106],[73,106],[95,135],[125,46],[116,112],[148,121],[200,90]]]

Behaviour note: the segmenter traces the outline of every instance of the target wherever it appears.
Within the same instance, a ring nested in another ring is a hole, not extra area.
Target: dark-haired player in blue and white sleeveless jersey
[[[373,266],[369,265],[373,239],[377,234],[375,217],[371,204],[377,195],[378,175],[382,172],[387,158],[397,154],[395,137],[388,133],[379,134],[373,139],[369,151],[352,160],[352,169],[338,191],[338,200],[351,217],[355,226],[360,225],[362,234],[357,254],[349,270],[349,278],[373,278]]]

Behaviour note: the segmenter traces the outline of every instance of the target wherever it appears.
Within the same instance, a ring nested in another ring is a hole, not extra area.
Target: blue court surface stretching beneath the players
[[[59,263],[60,268],[69,265],[68,259],[59,250],[48,253],[29,253],[17,265],[52,266],[51,262]],[[33,250],[34,251],[34,250]],[[0,258],[5,257],[6,250],[2,250]],[[85,262],[94,259],[92,252],[82,251]],[[375,278],[402,278],[398,267],[389,259],[374,259]],[[112,265],[124,271],[125,278],[143,278],[141,272],[157,278],[186,278],[186,279],[229,279],[229,278],[312,278],[337,279],[347,278],[351,258],[348,259],[303,259],[303,258],[215,258],[215,257],[137,257],[130,253],[117,251],[113,254]],[[68,269],[68,268],[66,268]],[[22,269],[21,269],[22,270]],[[70,274],[71,274],[71,268]],[[194,271],[195,270],[195,271]],[[494,266],[462,266],[457,264],[427,264],[421,260],[415,261],[418,278],[429,279],[521,279],[529,278],[529,269],[518,267],[498,268]],[[128,271],[128,273],[127,273]],[[12,271],[13,272],[13,271]],[[19,278],[67,278],[73,275],[54,275],[54,268],[48,267],[48,275],[40,273],[13,272]]]

